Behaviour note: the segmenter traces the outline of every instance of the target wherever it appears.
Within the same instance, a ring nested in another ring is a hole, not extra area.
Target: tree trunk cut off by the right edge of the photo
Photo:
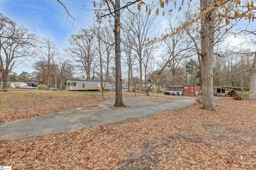
[[[256,51],[251,71],[249,100],[256,100]]]

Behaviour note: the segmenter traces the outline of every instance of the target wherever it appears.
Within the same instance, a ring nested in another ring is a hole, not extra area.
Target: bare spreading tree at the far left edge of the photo
[[[35,36],[10,18],[0,14],[0,82],[7,89],[7,77],[11,70],[34,55]]]

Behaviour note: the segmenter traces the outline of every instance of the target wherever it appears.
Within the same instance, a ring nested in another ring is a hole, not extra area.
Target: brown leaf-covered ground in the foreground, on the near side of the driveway
[[[217,100],[80,131],[0,143],[14,169],[256,169],[256,102]]]

